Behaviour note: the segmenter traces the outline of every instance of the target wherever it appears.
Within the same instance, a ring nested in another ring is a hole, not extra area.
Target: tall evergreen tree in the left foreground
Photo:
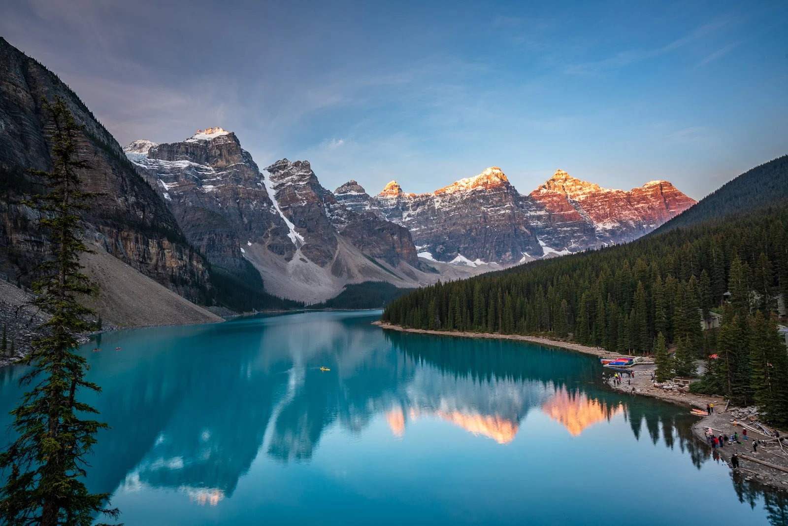
[[[86,360],[74,353],[77,335],[90,329],[87,317],[95,314],[76,300],[77,294],[93,291],[79,263],[80,253],[90,251],[80,239],[78,212],[87,208],[91,195],[80,191],[79,171],[87,168],[76,159],[81,126],[59,97],[45,101],[43,108],[54,128],[54,170],[32,172],[42,177],[48,192],[26,204],[39,211],[54,256],[43,263],[42,276],[32,287],[35,305],[51,317],[40,326],[46,335],[33,342],[24,359],[31,368],[21,383],[32,389],[11,412],[18,438],[0,453],[0,469],[7,477],[0,489],[0,522],[87,526],[96,513],[118,513],[104,507],[108,494],[90,494],[82,482],[95,433],[106,427],[80,418],[97,411],[76,399],[80,390],[100,390],[84,379]]]

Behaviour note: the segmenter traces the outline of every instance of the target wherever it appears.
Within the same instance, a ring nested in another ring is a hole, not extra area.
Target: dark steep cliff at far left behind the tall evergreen
[[[162,285],[199,300],[200,290],[208,286],[202,257],[189,248],[177,220],[84,103],[54,73],[2,38],[0,79],[0,170],[6,197],[0,204],[2,271],[29,270],[48,249],[33,212],[13,200],[35,189],[25,170],[52,169],[52,124],[41,99],[59,95],[84,125],[77,140],[77,155],[90,166],[81,174],[83,189],[99,194],[83,215],[87,237]]]

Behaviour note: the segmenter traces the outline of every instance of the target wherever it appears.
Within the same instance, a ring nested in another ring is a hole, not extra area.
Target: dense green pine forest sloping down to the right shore
[[[728,215],[630,244],[437,283],[392,301],[382,319],[421,329],[546,334],[620,353],[654,351],[662,379],[693,375],[695,359],[717,355],[695,390],[768,406],[768,420],[788,423],[788,354],[776,325],[778,303],[788,297],[786,225],[784,204]]]

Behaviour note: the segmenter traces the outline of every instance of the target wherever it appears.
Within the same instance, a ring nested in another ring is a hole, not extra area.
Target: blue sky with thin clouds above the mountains
[[[330,189],[500,166],[700,199],[788,153],[784,1],[6,0],[0,35],[121,144],[220,125]]]

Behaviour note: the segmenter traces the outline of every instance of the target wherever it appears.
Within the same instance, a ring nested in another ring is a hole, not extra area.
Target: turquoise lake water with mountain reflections
[[[91,491],[127,526],[786,524],[686,409],[608,390],[597,359],[379,314],[102,334]],[[0,371],[4,427],[20,373]]]

